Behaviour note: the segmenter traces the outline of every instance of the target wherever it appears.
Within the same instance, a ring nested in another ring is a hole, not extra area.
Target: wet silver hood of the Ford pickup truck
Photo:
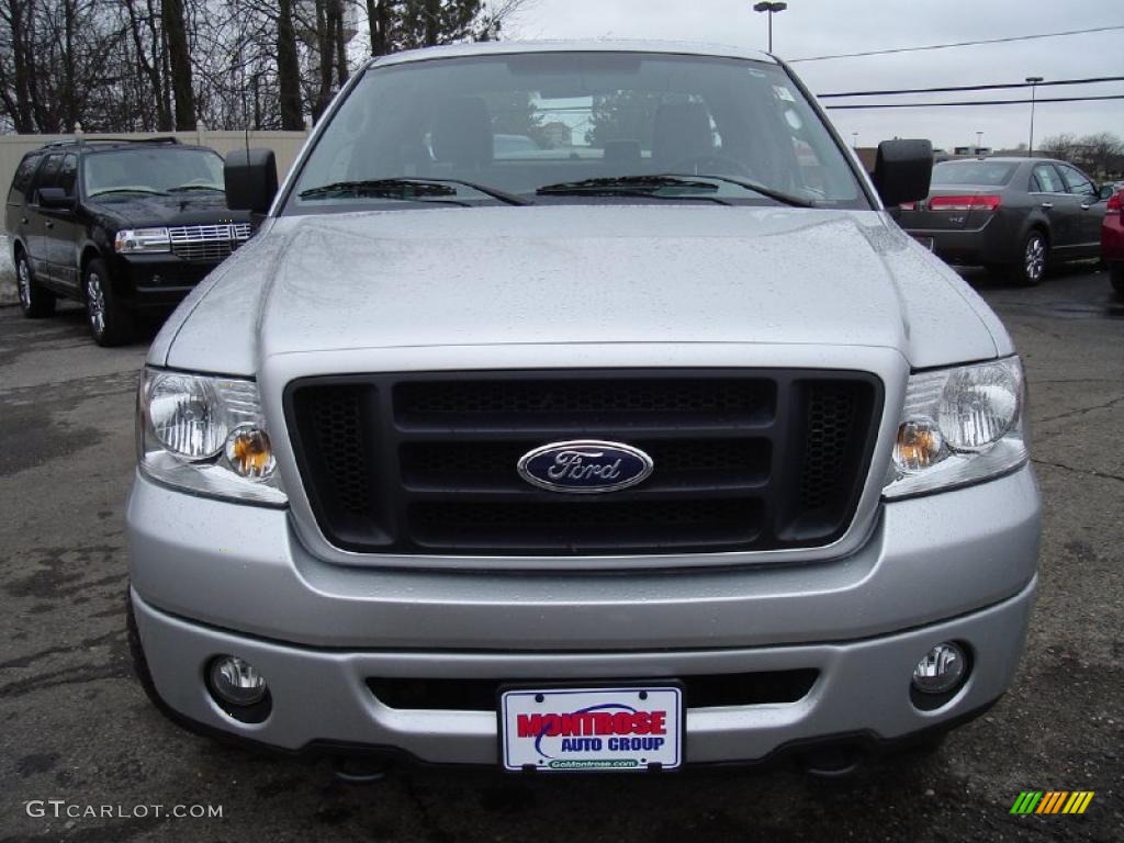
[[[345,348],[765,343],[889,347],[922,368],[997,342],[967,284],[879,212],[565,205],[282,217],[149,359],[252,374]]]

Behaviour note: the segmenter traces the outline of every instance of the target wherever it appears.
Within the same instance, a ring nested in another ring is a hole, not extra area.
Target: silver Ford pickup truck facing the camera
[[[497,160],[513,101],[583,154]],[[138,396],[153,701],[372,776],[839,771],[987,709],[1040,500],[1010,337],[883,211],[931,167],[872,183],[765,54],[610,40],[371,61],[278,196],[232,153],[268,217]]]

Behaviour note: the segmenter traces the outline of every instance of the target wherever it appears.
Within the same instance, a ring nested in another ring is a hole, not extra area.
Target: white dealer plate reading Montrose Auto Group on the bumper
[[[671,770],[683,758],[677,687],[507,690],[500,758],[508,770]]]

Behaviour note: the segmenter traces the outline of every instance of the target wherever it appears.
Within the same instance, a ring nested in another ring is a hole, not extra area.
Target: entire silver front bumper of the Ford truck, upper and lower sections
[[[895,740],[955,722],[1009,686],[1036,588],[1040,500],[1028,468],[881,507],[843,559],[689,571],[519,573],[359,569],[311,556],[282,509],[138,477],[128,507],[133,609],[156,695],[203,727],[275,747],[395,747],[495,763],[496,715],[390,708],[368,678],[541,683],[814,669],[795,703],[691,708],[687,760],[752,761],[841,733]],[[961,641],[969,681],[934,711],[909,677]],[[272,714],[224,714],[203,682],[234,654]]]

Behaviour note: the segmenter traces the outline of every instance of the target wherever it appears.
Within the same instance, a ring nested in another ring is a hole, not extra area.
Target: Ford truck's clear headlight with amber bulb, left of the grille
[[[137,459],[155,480],[220,498],[288,501],[254,381],[144,370]]]

